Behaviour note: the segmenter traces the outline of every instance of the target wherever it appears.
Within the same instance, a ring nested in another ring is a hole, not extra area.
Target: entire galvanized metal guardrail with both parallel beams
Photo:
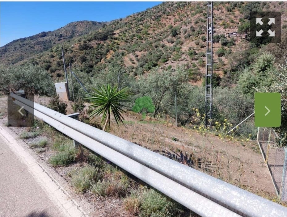
[[[287,208],[11,93],[14,102],[203,217],[286,217]]]

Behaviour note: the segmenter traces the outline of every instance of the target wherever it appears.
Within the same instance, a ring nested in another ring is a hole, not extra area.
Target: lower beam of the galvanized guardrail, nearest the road
[[[14,101],[19,106],[24,106],[25,110],[32,112],[33,108],[27,106],[18,100]],[[107,146],[91,139],[88,136],[82,135],[82,133],[67,127],[66,125],[60,123],[59,121],[44,115],[43,113],[34,110],[34,115],[44,122],[48,123],[52,127],[56,128],[58,131],[61,131],[65,135],[71,137],[74,140],[82,141],[82,145],[93,150],[109,161],[120,166],[122,169],[125,169],[127,172],[138,177],[142,181],[153,186],[155,189],[161,191],[167,196],[171,197],[180,204],[188,207],[189,209],[195,211],[201,216],[232,216],[238,217],[240,215],[235,214],[234,212],[218,205],[217,203],[210,201],[209,199],[193,192],[192,190],[172,181],[171,179],[157,173],[156,171],[147,168],[145,165],[130,159],[129,157],[116,152],[115,150],[108,148]]]

